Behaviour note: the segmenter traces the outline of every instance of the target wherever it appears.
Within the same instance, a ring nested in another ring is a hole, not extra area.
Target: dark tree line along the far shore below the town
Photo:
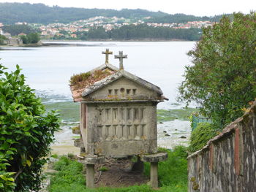
[[[105,31],[105,28],[92,28],[88,32],[76,33],[78,39],[113,39],[113,40],[132,40],[132,39],[182,39],[188,41],[197,41],[201,36],[200,28],[174,29],[165,27],[153,27],[141,24],[138,26],[129,25],[121,28]],[[64,39],[64,37],[54,37],[54,39]]]

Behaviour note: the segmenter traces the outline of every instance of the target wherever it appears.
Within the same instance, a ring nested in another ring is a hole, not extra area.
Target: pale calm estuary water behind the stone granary
[[[37,95],[44,98],[45,103],[72,102],[69,78],[73,74],[87,72],[104,64],[105,55],[102,55],[102,51],[109,48],[114,55],[117,55],[119,50],[128,55],[128,58],[124,59],[125,70],[162,89],[170,100],[160,103],[159,109],[182,107],[176,104],[178,85],[184,78],[184,67],[190,64],[187,52],[192,50],[195,42],[51,43],[69,45],[0,47],[0,63],[12,71],[18,64],[23,69],[27,84],[36,90]],[[110,64],[118,67],[118,60],[114,59],[113,55],[110,55]],[[164,137],[162,134],[162,131],[167,130],[170,130],[170,137]],[[70,137],[73,137],[70,133],[67,127],[63,127],[63,131],[56,136],[59,140],[59,144],[56,145],[70,145]],[[159,145],[171,147],[177,143],[175,141],[178,141],[181,135],[189,135],[189,122],[174,120],[159,124]]]

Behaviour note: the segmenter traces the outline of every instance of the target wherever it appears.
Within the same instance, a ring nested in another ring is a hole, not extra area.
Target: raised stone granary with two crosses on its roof
[[[108,63],[74,75],[70,86],[74,101],[80,101],[82,158],[86,163],[86,185],[94,188],[94,164],[105,157],[138,155],[151,162],[151,186],[157,187],[157,164],[167,153],[157,153],[157,104],[166,99],[159,87],[124,71],[120,51],[119,68]],[[83,149],[83,148],[82,148]],[[139,160],[139,161],[140,161]],[[141,162],[140,161],[140,162]]]

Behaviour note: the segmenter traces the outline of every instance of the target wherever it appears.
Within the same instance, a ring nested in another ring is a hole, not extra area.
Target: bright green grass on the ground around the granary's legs
[[[159,186],[157,190],[148,185],[125,188],[86,189],[83,165],[67,156],[61,156],[53,168],[59,171],[51,177],[50,192],[185,192],[187,191],[187,152],[183,146],[167,151],[167,161],[159,163]],[[145,174],[149,176],[150,165],[145,164]]]

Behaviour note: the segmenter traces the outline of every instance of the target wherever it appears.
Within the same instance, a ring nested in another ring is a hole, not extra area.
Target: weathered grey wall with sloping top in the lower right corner
[[[201,150],[189,155],[189,192],[256,191],[256,101]]]

